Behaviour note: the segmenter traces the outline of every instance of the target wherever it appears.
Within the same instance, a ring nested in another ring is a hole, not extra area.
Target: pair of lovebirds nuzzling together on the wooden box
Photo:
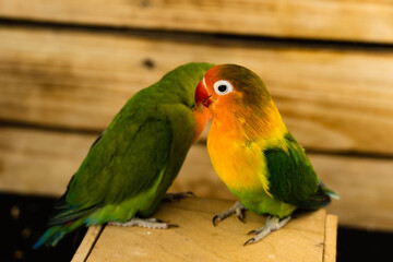
[[[285,225],[296,209],[315,210],[335,196],[318,179],[257,74],[235,64],[188,63],[136,93],[116,115],[34,248],[56,246],[83,225],[175,226],[148,217],[163,198],[187,196],[166,191],[211,118],[212,164],[239,199],[213,218],[214,225],[235,213],[242,219],[246,210],[270,214],[246,243],[257,242]]]

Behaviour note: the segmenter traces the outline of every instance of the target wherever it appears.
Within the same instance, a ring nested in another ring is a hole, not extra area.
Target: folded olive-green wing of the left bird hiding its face
[[[172,130],[165,118],[154,118],[155,114],[146,110],[119,114],[93,143],[59,201],[60,212],[51,225],[120,203],[151,188],[168,163]]]

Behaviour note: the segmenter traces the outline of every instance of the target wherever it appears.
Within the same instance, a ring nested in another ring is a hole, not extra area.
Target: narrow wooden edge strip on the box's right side
[[[330,214],[326,215],[323,260],[322,260],[323,262],[336,261],[337,223],[338,223],[338,217],[336,215],[330,215]]]

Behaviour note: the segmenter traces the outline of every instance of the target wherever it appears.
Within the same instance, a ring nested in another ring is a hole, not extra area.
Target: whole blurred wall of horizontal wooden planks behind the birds
[[[139,90],[186,62],[267,84],[341,225],[393,230],[393,1],[2,0],[0,190],[60,195]],[[206,135],[172,191],[231,199]]]

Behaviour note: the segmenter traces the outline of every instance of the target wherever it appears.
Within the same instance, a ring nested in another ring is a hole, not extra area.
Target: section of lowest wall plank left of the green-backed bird
[[[0,129],[0,190],[60,196],[95,135]]]

